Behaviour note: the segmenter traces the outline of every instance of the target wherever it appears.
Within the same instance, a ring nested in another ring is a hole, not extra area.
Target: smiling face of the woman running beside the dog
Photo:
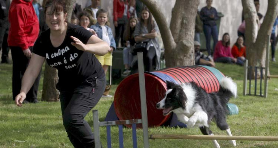
[[[61,30],[63,27],[65,27],[66,16],[67,13],[64,14],[63,11],[55,11],[53,14],[51,14],[51,7],[47,7],[45,12],[45,22],[50,30]]]

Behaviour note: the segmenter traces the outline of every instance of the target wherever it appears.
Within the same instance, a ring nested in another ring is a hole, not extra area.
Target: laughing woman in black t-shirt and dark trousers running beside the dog
[[[58,70],[56,88],[70,142],[78,148],[95,147],[94,134],[84,117],[98,103],[106,85],[104,70],[94,54],[105,55],[110,47],[85,28],[67,23],[65,6],[65,0],[46,2],[44,13],[49,29],[36,40],[15,104],[22,106],[46,60]]]

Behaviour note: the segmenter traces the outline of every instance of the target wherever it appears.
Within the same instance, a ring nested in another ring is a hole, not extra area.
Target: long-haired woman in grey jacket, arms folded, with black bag
[[[141,11],[140,22],[136,24],[135,31],[133,33],[134,39],[137,43],[147,43],[147,64],[146,71],[153,71],[153,59],[155,59],[155,70],[160,69],[160,46],[158,44],[159,30],[156,22],[153,20],[153,16],[150,10],[144,6]],[[134,60],[133,60],[134,61]]]

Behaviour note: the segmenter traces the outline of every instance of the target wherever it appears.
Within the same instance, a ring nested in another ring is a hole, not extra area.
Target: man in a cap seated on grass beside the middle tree
[[[198,41],[194,41],[195,64],[215,67],[215,63],[214,63],[212,57],[203,54],[200,51],[200,46],[201,46],[201,44]]]

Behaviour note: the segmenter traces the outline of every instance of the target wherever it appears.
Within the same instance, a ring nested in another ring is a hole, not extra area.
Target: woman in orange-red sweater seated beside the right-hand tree
[[[234,43],[234,46],[232,47],[232,55],[237,58],[237,63],[239,65],[244,64],[244,60],[246,58],[246,47],[244,46],[242,36],[239,36],[237,42]]]

